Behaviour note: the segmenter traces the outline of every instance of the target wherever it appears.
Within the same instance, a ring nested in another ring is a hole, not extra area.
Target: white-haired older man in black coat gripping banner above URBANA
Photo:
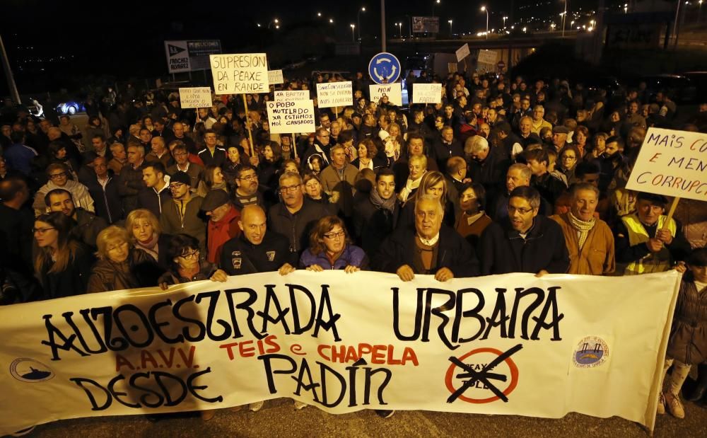
[[[444,207],[429,195],[415,205],[415,228],[402,228],[385,239],[374,258],[374,267],[395,272],[404,282],[415,274],[431,274],[440,282],[479,275],[472,247],[456,231],[442,224]]]

